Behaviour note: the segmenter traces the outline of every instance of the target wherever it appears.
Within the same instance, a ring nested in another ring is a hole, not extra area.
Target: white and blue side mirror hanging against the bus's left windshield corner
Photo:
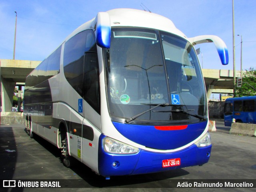
[[[98,12],[95,18],[96,44],[101,48],[110,48],[110,17],[107,12]]]

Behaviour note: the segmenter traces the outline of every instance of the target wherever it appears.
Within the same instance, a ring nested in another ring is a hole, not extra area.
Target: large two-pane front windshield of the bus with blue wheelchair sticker
[[[112,28],[106,63],[108,110],[113,121],[124,122],[147,110],[131,123],[206,120],[202,73],[195,50],[185,39],[158,30]]]

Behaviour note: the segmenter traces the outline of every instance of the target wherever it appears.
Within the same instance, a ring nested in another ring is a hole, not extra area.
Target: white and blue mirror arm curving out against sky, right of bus
[[[220,60],[222,65],[228,64],[228,49],[224,41],[215,35],[200,35],[192,38],[188,38],[189,41],[193,44],[201,44],[201,43],[212,43],[214,42],[218,54],[220,56]]]

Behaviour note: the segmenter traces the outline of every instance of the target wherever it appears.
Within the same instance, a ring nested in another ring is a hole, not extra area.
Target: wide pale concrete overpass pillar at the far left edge
[[[15,85],[15,82],[2,78],[2,112],[12,111],[12,100]]]

